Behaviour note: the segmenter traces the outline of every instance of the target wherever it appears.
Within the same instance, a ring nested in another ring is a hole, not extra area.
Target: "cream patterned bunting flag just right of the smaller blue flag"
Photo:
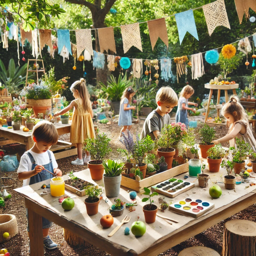
[[[93,55],[92,34],[90,29],[76,30],[76,47],[77,59],[79,58],[83,50],[87,50],[91,55]]]

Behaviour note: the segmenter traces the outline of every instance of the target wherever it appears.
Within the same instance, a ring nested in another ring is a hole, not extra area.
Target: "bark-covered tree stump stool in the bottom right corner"
[[[256,223],[230,220],[224,225],[222,256],[255,256]]]

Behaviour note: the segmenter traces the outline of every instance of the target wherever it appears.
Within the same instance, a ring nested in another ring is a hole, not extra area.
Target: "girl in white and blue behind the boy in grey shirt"
[[[189,102],[188,99],[194,94],[194,89],[190,85],[186,85],[180,92],[178,110],[176,113],[176,123],[184,123],[188,129],[188,110],[192,110],[194,113],[196,109],[189,108],[188,105],[198,106],[197,103]]]

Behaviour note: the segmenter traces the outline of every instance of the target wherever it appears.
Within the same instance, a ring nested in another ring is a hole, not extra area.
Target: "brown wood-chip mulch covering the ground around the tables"
[[[140,120],[139,124],[135,124],[132,126],[131,131],[135,133],[136,130],[139,132],[143,126],[143,120]],[[201,127],[201,125],[199,125]],[[118,136],[120,132],[120,127],[117,124],[99,124],[98,126],[101,132],[105,132],[107,136],[111,139],[111,148],[112,153],[110,154],[110,158],[118,159],[119,154],[116,152],[117,148],[124,148],[124,146],[119,142]],[[216,138],[220,138],[227,133],[227,128],[224,126],[215,126],[216,129]],[[197,131],[197,129],[196,129]],[[197,132],[196,132],[197,134]],[[198,135],[197,135],[198,136]],[[61,135],[61,140],[69,141],[69,134]],[[223,145],[227,146],[227,144]],[[23,149],[24,151],[24,149]],[[17,152],[19,155],[22,152]],[[77,166],[72,165],[71,161],[75,160],[77,156],[70,156],[63,159],[57,160],[59,168],[62,170],[63,175],[68,174],[70,171],[74,170],[74,174],[77,171],[81,171],[87,168],[86,165]],[[20,255],[28,255],[28,247],[29,240],[26,232],[27,219],[26,219],[26,209],[24,205],[24,198],[18,195],[13,189],[21,187],[23,182],[18,179],[18,174],[16,172],[6,172],[1,173],[2,177],[9,177],[11,179],[1,179],[0,178],[0,188],[6,189],[8,193],[12,194],[12,198],[6,202],[6,209],[0,208],[0,214],[14,214],[18,221],[18,229],[19,233],[17,236],[13,237],[10,241],[2,244],[2,248],[6,248],[8,252],[10,252],[11,256],[20,256]],[[223,237],[223,225],[225,222],[232,219],[245,219],[256,222],[256,211],[255,205],[252,205],[245,210],[238,212],[237,214],[229,217],[226,220],[221,221],[217,225],[210,227],[203,231],[202,233],[196,235],[195,237],[191,237],[188,240],[180,243],[177,246],[159,254],[162,256],[176,256],[178,253],[184,248],[191,246],[207,246],[210,247],[217,252],[221,253],[222,250],[222,237]],[[103,256],[109,255],[106,252],[100,250],[95,246],[91,246],[89,248],[84,247],[73,247],[69,246],[69,244],[63,238],[63,230],[61,227],[53,224],[50,229],[50,234],[52,240],[59,244],[59,247],[52,251],[46,251],[45,255],[51,256]],[[124,237],[125,238],[125,237]]]

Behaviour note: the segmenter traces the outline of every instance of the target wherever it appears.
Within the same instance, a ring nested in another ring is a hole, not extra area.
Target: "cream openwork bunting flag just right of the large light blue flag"
[[[203,11],[210,36],[218,26],[224,26],[230,29],[224,0],[217,0],[204,5]]]

